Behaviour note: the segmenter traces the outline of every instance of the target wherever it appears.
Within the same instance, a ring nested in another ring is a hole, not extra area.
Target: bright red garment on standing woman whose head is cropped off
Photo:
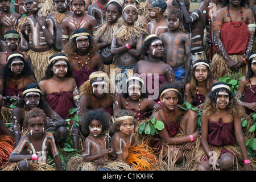
[[[232,22],[223,23],[220,39],[228,55],[243,55],[246,52],[249,39],[247,23],[242,22],[240,27],[234,27]],[[213,49],[219,53],[215,44],[213,44]]]

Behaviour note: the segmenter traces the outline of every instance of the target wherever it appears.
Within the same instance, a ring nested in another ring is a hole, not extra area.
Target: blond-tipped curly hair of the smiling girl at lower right
[[[217,82],[213,84],[212,87],[220,84],[229,86],[224,82]],[[234,94],[230,92],[229,89],[226,89],[224,87],[214,89],[212,92],[207,94],[207,97],[205,98],[205,102],[204,102],[204,108],[203,108],[205,115],[209,116],[210,114],[218,112],[219,109],[216,102],[217,95],[219,92],[223,90],[226,90],[226,92],[229,94],[229,104],[226,107],[226,110],[230,115],[233,115],[233,117],[241,117],[241,115],[245,112],[243,106],[238,101],[238,98],[234,97]]]

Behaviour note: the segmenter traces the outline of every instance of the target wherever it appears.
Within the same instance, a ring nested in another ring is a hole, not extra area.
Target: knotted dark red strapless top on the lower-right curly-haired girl
[[[218,122],[209,122],[208,143],[214,146],[235,144],[234,122],[224,123],[222,118]]]

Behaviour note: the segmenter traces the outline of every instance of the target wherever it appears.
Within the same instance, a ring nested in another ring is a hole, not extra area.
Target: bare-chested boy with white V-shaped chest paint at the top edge
[[[97,20],[84,12],[84,0],[72,0],[71,7],[73,15],[64,19],[62,23],[62,51],[64,51],[65,44],[71,39],[73,31],[76,30],[76,28],[84,28],[90,35],[93,35],[93,32],[98,28]]]

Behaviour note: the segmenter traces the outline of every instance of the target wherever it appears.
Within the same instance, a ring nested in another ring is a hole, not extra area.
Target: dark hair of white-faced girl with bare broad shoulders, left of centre
[[[65,55],[64,55],[64,53],[56,53],[55,55],[52,55],[51,57],[49,57],[49,59],[51,60],[52,57],[55,57],[55,56],[65,56]],[[59,61],[59,60],[64,60],[64,59],[57,59],[48,64],[46,71],[44,72],[44,76],[43,76],[42,80],[47,80],[53,76],[53,71],[52,71],[53,64],[57,63],[57,61]],[[67,71],[67,74],[65,75],[65,77],[69,77],[69,78],[73,77],[73,71],[72,71],[71,65],[69,64],[69,62],[67,60],[64,60],[64,61],[68,65],[68,71]]]

